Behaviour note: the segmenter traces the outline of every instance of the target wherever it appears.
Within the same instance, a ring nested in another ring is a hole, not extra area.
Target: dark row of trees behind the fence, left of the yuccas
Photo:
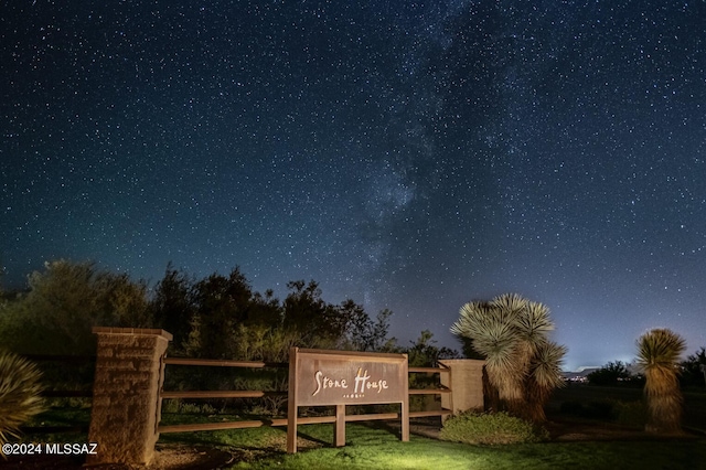
[[[352,299],[322,298],[311,280],[287,284],[284,301],[253,290],[238,267],[197,279],[171,264],[152,289],[93,263],[51,261],[28,289],[0,297],[0,348],[22,354],[93,354],[94,325],[160,328],[169,354],[286,362],[290,346],[408,352],[413,365],[456,356],[422,331],[409,348],[388,337],[392,311],[371,317]]]

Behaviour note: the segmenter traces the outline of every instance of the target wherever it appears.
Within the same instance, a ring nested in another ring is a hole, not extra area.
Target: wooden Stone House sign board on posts
[[[402,405],[402,440],[409,440],[406,354],[289,351],[287,451],[297,451],[299,406],[335,406],[335,446],[345,445],[345,405]]]

